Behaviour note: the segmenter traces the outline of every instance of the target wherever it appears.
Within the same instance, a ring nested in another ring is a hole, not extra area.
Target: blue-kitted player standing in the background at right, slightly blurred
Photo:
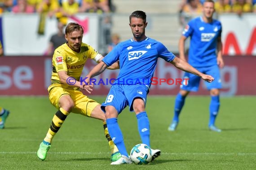
[[[179,42],[180,58],[185,59],[184,44],[190,37],[190,49],[188,63],[200,72],[212,75],[215,79],[212,83],[207,83],[207,89],[210,91],[211,103],[209,106],[210,119],[208,127],[211,131],[221,132],[221,129],[215,126],[215,119],[220,107],[219,94],[221,89],[221,76],[219,67],[224,66],[222,59],[221,43],[221,22],[212,18],[214,13],[214,1],[205,0],[203,3],[203,16],[192,19],[182,33]],[[185,78],[189,81],[181,85],[180,92],[177,94],[174,108],[174,117],[168,127],[169,131],[175,131],[179,123],[179,115],[184,106],[185,98],[190,91],[198,91],[200,78],[188,72],[185,72]]]

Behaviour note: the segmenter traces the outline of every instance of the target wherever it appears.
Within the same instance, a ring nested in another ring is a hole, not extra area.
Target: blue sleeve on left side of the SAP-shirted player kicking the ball
[[[107,64],[108,66],[112,65],[116,61],[119,60],[119,55],[121,51],[121,43],[118,43],[113,50],[111,50],[103,59],[102,61]]]

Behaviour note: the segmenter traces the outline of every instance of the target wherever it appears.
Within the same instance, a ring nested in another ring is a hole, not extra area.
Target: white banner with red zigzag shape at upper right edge
[[[220,15],[224,55],[256,55],[256,17],[253,13]]]

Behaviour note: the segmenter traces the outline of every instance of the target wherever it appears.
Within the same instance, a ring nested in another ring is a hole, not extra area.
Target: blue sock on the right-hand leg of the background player
[[[211,96],[212,100],[210,102],[209,111],[210,111],[210,119],[208,126],[212,126],[215,123],[216,116],[219,112],[220,108],[220,97],[219,96]]]

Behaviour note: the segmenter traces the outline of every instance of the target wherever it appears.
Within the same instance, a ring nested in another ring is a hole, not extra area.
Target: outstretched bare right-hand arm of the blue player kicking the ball
[[[203,80],[207,82],[212,82],[214,78],[210,75],[203,74],[202,72],[199,72],[197,69],[192,67],[190,64],[188,64],[186,61],[179,59],[178,57],[175,57],[171,64],[173,64],[176,68],[179,68],[180,70],[183,70],[185,72],[190,72],[196,76],[201,77]]]

